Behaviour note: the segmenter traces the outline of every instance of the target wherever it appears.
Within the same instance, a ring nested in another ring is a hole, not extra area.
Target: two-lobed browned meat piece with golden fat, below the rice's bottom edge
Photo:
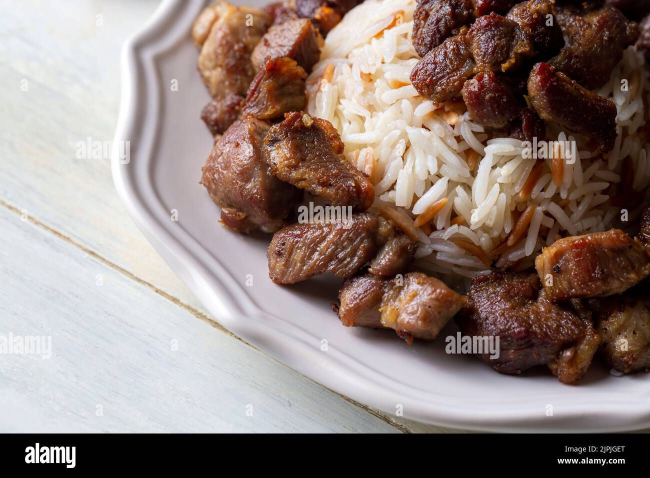
[[[413,338],[435,339],[465,297],[436,278],[409,272],[391,280],[357,274],[343,283],[339,301],[343,325],[392,328],[411,343]]]

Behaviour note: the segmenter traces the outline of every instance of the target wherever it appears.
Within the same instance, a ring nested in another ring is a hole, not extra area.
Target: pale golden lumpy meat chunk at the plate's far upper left
[[[223,0],[208,9],[192,30],[195,42],[201,44],[198,69],[203,83],[215,99],[229,94],[244,96],[257,72],[250,62],[253,48],[271,25],[271,18],[257,8],[233,7]],[[211,26],[205,34],[207,25]]]

